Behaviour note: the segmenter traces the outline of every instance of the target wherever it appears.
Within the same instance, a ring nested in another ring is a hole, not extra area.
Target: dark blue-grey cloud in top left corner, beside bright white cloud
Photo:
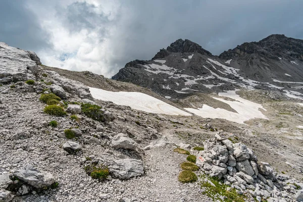
[[[16,0],[0,2],[0,41],[31,51],[50,47],[49,35],[41,29],[38,16],[24,3]]]

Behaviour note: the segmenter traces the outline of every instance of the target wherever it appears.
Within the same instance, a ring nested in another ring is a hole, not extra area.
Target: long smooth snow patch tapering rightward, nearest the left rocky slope
[[[89,87],[89,90],[95,99],[111,101],[116,105],[129,106],[135,110],[154,114],[191,116],[191,114],[173,107],[160,99],[141,92],[112,92],[92,87]]]

